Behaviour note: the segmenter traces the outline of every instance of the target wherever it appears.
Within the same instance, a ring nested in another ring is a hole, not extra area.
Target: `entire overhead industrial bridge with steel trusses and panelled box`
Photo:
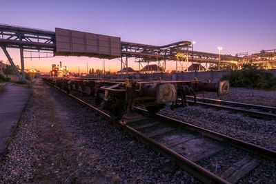
[[[101,34],[79,32],[56,28],[55,32],[33,28],[23,28],[13,25],[0,25],[0,47],[6,54],[20,81],[25,80],[24,52],[53,53],[55,56],[86,56],[100,59],[119,59],[121,72],[128,68],[128,58],[135,58],[139,63],[139,70],[155,62],[158,68],[166,71],[166,61],[175,61],[177,72],[188,71],[188,62],[216,63],[237,65],[252,62],[265,65],[270,69],[276,63],[275,50],[262,50],[261,53],[241,57],[193,50],[190,41],[179,41],[168,45],[146,45],[121,41],[119,37]],[[19,48],[21,56],[21,73],[15,67],[7,48]]]

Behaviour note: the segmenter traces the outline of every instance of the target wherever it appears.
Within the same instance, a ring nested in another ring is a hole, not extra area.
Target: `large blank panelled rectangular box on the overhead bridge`
[[[56,56],[121,57],[121,38],[75,30],[55,29]]]

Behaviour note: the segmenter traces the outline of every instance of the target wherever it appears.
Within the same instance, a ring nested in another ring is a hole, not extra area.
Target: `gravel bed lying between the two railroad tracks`
[[[201,106],[177,108],[174,111],[166,107],[160,114],[276,150],[275,120],[265,121],[245,114]]]

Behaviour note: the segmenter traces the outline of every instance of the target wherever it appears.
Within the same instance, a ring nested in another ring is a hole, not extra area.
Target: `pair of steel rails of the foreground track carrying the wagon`
[[[50,84],[50,83],[49,83]],[[52,84],[50,84],[52,85]],[[58,90],[61,90],[55,85],[52,85]],[[66,91],[61,90],[62,92],[68,94]],[[79,99],[77,96],[74,96],[72,94],[68,94],[72,99],[76,99],[77,101],[83,103],[84,105],[87,105],[89,108],[92,108],[93,110],[96,110],[99,112],[99,114],[102,114],[103,116],[106,116],[108,119],[110,119],[110,115],[106,114],[105,112],[102,112],[98,108],[95,108],[94,106],[90,105],[89,103],[86,103],[85,101]],[[146,110],[143,110],[141,108],[136,108],[137,111],[141,113],[147,113]],[[258,156],[262,156],[266,159],[270,159],[275,161],[276,160],[276,152],[273,150],[269,150],[264,147],[260,147],[258,145],[254,145],[253,143],[247,143],[245,141],[241,141],[239,139],[235,139],[230,136],[226,136],[224,134],[219,134],[217,132],[213,132],[211,130],[207,130],[202,127],[198,127],[196,125],[192,125],[190,123],[186,123],[183,121],[178,121],[176,119],[172,119],[168,116],[164,116],[161,114],[155,114],[154,117],[156,119],[161,120],[162,122],[170,123],[172,125],[176,125],[178,127],[184,127],[186,130],[190,130],[193,132],[199,132],[199,134],[208,136],[212,139],[215,139],[217,141],[221,141],[223,143],[226,143],[228,145],[232,145],[233,147],[237,147],[241,150],[245,150],[247,152],[257,154]],[[145,145],[149,145],[152,147],[152,149],[156,150],[157,152],[161,152],[161,154],[164,154],[164,156],[168,157],[172,161],[175,161],[181,168],[192,174],[193,176],[199,178],[199,180],[203,181],[204,183],[228,183],[228,181],[224,180],[223,178],[213,174],[212,172],[209,172],[208,170],[204,169],[204,167],[201,167],[194,163],[193,161],[190,161],[186,159],[184,156],[181,156],[180,154],[177,154],[177,152],[172,151],[170,148],[165,147],[164,145],[161,145],[157,141],[150,139],[148,136],[145,136],[144,134],[141,134],[141,132],[138,132],[137,130],[133,129],[132,127],[128,125],[124,125],[124,123],[120,121],[112,121],[112,123],[115,123],[117,127],[120,127],[121,129],[128,132],[128,134],[135,137],[135,139],[138,139]]]

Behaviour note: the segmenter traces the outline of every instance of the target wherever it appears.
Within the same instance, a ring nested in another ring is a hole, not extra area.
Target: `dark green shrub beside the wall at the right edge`
[[[252,64],[243,65],[242,70],[225,74],[221,80],[229,80],[232,87],[276,90],[276,79],[273,78],[273,74],[258,70],[257,65]]]

